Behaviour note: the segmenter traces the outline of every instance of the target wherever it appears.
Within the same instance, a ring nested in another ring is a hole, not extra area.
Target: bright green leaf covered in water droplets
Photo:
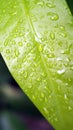
[[[0,51],[56,130],[73,130],[73,18],[65,0],[0,0]]]

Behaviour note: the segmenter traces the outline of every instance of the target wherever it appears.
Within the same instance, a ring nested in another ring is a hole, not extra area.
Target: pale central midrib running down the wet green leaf
[[[20,0],[19,0],[20,1]],[[22,0],[23,1],[23,0]],[[26,3],[26,0],[25,0],[25,3]],[[32,20],[31,20],[31,17],[30,17],[30,13],[29,13],[29,11],[28,11],[28,9],[27,9],[27,6],[26,6],[26,4],[24,4],[24,13],[25,13],[25,15],[26,15],[26,18],[28,19],[28,24],[29,24],[29,27],[31,28],[31,31],[32,31],[32,33],[33,33],[33,35],[34,35],[34,39],[35,39],[35,37],[37,37],[38,38],[38,35],[37,35],[37,33],[36,33],[36,31],[35,31],[35,27],[34,27],[34,25],[33,25],[33,23],[32,23]],[[39,39],[39,38],[38,38]],[[40,40],[39,40],[40,41]],[[36,50],[38,51],[38,44],[41,44],[41,43],[39,43],[39,42],[35,42],[35,46],[36,46]],[[39,53],[39,55],[40,55],[40,60],[41,60],[41,63],[43,64],[43,67],[44,67],[44,70],[45,70],[45,72],[46,72],[46,74],[47,74],[47,82],[48,82],[48,80],[49,80],[49,84],[50,84],[50,86],[51,86],[51,88],[52,88],[52,91],[53,91],[53,93],[54,93],[54,102],[56,103],[56,107],[57,107],[57,112],[58,112],[58,115],[59,115],[59,118],[60,118],[60,120],[61,120],[61,122],[62,122],[62,125],[63,126],[65,126],[65,121],[64,121],[64,119],[63,119],[63,117],[62,117],[62,115],[63,114],[61,114],[62,113],[62,110],[61,110],[61,105],[60,105],[60,102],[59,102],[59,100],[58,100],[58,98],[57,98],[57,92],[56,92],[56,89],[55,89],[55,86],[53,85],[53,83],[52,83],[52,81],[51,81],[51,78],[49,78],[50,76],[51,76],[51,74],[50,74],[50,72],[48,71],[48,69],[47,69],[47,65],[46,65],[46,61],[45,61],[45,58],[44,58],[44,56],[43,56],[43,54],[41,53],[41,52],[39,52],[38,51],[38,53]]]

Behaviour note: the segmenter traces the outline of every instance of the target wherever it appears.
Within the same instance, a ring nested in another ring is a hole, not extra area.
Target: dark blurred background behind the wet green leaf
[[[73,14],[73,0],[67,0]],[[11,76],[0,55],[0,130],[54,130]]]

